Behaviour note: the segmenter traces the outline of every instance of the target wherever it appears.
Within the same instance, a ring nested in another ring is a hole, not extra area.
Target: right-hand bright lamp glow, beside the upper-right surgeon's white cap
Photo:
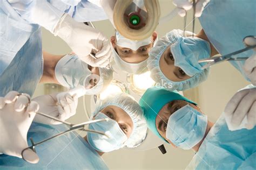
[[[132,84],[134,88],[139,91],[146,91],[148,88],[154,86],[156,82],[150,77],[150,72],[145,72],[139,75],[132,75]]]

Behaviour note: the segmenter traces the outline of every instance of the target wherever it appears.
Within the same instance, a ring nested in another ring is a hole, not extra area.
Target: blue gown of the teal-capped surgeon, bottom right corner
[[[256,169],[256,127],[230,131],[222,115],[187,169]]]

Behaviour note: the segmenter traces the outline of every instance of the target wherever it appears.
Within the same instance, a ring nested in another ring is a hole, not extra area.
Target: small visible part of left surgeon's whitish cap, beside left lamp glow
[[[110,82],[113,80],[113,70],[111,68],[106,67],[98,67],[99,68],[99,75],[100,78],[103,80],[103,88],[100,91],[103,91],[106,89],[107,86],[109,86]],[[99,82],[100,83],[100,82]]]

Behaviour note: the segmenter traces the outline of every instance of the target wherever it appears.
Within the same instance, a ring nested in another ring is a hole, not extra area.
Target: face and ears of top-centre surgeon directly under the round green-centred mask
[[[149,58],[150,49],[153,47],[153,42],[157,39],[157,32],[153,32],[149,45],[141,46],[137,51],[133,51],[130,48],[120,47],[117,44],[115,36],[111,37],[111,44],[116,49],[117,54],[120,58],[129,63],[139,63]]]

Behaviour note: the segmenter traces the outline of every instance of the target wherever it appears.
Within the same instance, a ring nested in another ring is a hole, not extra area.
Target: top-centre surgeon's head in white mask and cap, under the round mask
[[[157,32],[144,40],[130,40],[116,31],[111,37],[113,61],[111,64],[129,74],[142,74],[148,71],[147,59],[150,49],[157,42]]]

